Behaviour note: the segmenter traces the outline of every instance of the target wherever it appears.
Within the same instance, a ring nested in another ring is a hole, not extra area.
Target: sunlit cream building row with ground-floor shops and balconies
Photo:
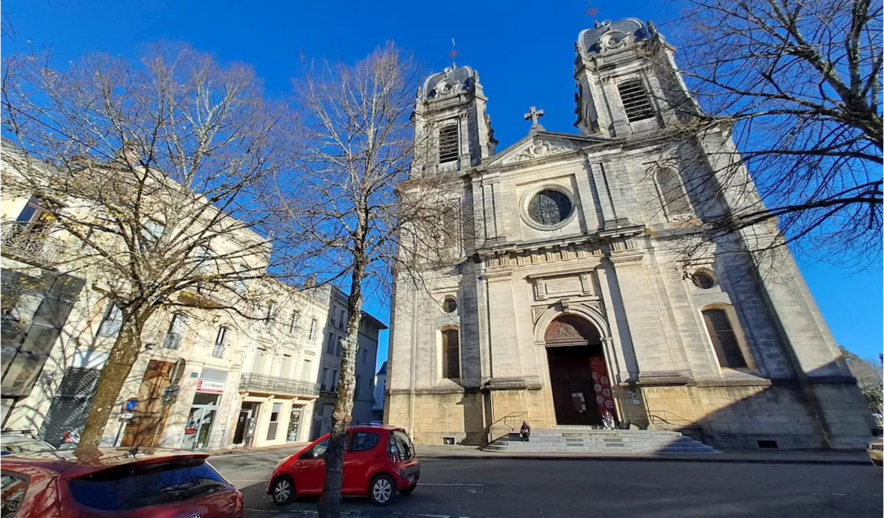
[[[106,282],[100,268],[62,274],[52,266],[59,257],[75,260],[80,243],[41,214],[39,200],[0,192],[0,395],[4,428],[34,430],[58,445],[85,424],[121,316],[97,289]],[[213,250],[263,242],[238,226],[212,240]],[[210,304],[162,309],[150,317],[141,335],[144,348],[118,396],[119,407],[136,399],[137,408],[126,421],[119,420],[122,408],[111,415],[103,445],[207,449],[309,438],[327,293],[271,278],[242,281],[236,289],[251,293],[263,318]],[[199,288],[184,294],[220,296]],[[164,404],[179,360],[186,368],[177,395]]]

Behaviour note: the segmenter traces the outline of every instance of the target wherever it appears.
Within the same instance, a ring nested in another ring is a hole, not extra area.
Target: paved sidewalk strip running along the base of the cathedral
[[[592,461],[743,462],[751,464],[871,465],[862,450],[729,450],[722,453],[522,453],[484,452],[476,446],[415,445],[421,459],[534,459]]]

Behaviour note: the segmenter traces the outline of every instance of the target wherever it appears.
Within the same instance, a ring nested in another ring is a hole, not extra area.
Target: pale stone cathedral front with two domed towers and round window
[[[864,446],[865,401],[788,249],[753,253],[775,226],[679,261],[697,222],[758,199],[717,182],[751,179],[726,164],[726,126],[692,133],[674,48],[623,19],[575,52],[579,133],[532,108],[500,152],[476,72],[424,82],[413,176],[445,179],[461,238],[422,283],[397,274],[385,422],[424,444],[613,420],[713,446]]]

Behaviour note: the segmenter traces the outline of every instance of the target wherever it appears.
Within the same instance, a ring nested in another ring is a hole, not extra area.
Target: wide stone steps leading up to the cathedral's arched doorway
[[[488,452],[524,453],[720,453],[712,446],[665,430],[598,430],[589,426],[560,426],[534,430],[531,440],[510,433],[485,446]]]

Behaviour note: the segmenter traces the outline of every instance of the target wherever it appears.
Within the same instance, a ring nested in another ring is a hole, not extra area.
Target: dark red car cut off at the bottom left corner
[[[242,518],[204,453],[100,448],[0,457],[0,517]]]

